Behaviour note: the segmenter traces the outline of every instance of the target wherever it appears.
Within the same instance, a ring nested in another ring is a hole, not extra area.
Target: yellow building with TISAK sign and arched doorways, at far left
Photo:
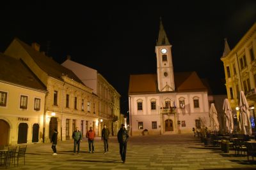
[[[22,60],[0,53],[0,146],[42,142],[45,85]]]

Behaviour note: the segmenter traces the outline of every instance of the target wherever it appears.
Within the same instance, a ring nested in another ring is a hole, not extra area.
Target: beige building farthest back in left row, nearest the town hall
[[[98,111],[99,117],[102,119],[99,126],[100,132],[102,125],[106,124],[113,132],[113,135],[116,135],[120,128],[120,120],[123,118],[120,117],[120,94],[95,69],[74,62],[70,58],[61,65],[72,70],[83,81],[84,85],[93,89],[93,93],[99,96]]]

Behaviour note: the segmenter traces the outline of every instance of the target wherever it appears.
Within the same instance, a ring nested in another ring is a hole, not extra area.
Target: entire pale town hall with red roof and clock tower
[[[173,73],[172,45],[162,22],[156,58],[157,74],[130,76],[131,134],[180,134],[208,127],[207,88],[195,72]]]

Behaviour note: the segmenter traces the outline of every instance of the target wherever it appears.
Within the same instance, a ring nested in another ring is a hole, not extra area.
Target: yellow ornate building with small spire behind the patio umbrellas
[[[228,100],[236,113],[239,92],[244,91],[250,106],[250,118],[255,117],[256,108],[256,24],[249,29],[237,45],[230,50],[227,39],[221,60],[225,69]],[[236,114],[234,114],[236,117]]]

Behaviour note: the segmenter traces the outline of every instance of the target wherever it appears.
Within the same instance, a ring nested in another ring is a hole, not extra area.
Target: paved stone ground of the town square
[[[88,141],[81,142],[81,153],[73,155],[73,141],[59,141],[58,155],[52,155],[51,143],[28,145],[26,165],[8,169],[256,169],[256,160],[236,156],[234,151],[204,146],[192,134],[131,137],[127,145],[127,159],[122,163],[116,138],[109,139],[109,152],[104,154],[100,138],[95,139],[95,153],[88,152]],[[4,169],[3,166],[0,169]]]

